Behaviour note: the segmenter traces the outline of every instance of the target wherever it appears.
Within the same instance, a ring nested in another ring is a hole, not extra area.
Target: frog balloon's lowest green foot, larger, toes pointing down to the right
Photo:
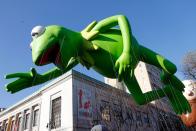
[[[191,107],[181,91],[170,85],[166,85],[164,91],[176,114],[191,112]]]

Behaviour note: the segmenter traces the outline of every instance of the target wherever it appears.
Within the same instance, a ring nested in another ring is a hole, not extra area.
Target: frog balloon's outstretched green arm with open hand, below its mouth
[[[44,74],[38,74],[34,68],[31,69],[28,73],[14,73],[8,74],[5,76],[6,79],[11,78],[18,78],[17,80],[10,82],[6,85],[6,90],[15,93],[27,87],[32,87],[35,85],[42,84],[47,82],[51,79],[54,79],[63,73],[72,69],[75,65],[78,64],[76,59],[72,59],[68,66],[64,70],[60,70],[59,68],[55,67]]]

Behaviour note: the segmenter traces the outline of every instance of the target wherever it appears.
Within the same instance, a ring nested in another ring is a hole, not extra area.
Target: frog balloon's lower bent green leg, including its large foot
[[[168,96],[169,101],[177,114],[191,112],[191,107],[182,92],[166,85],[165,88],[143,93],[135,76],[126,77],[124,82],[137,104],[143,105],[156,99]]]

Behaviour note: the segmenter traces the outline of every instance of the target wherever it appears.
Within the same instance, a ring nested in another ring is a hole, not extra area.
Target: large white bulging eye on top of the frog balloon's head
[[[43,26],[35,26],[32,31],[31,31],[31,36],[32,38],[37,38],[40,35],[42,35],[44,33],[44,31],[46,30],[45,27]]]

